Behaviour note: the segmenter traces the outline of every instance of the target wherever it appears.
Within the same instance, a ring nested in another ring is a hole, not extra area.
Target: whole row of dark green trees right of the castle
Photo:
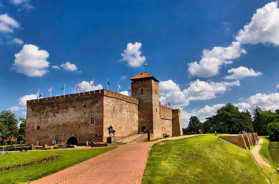
[[[183,128],[183,133],[199,134],[203,133],[239,134],[245,132],[256,132],[259,136],[269,135],[270,140],[279,141],[279,110],[262,111],[260,107],[255,107],[252,114],[246,110],[239,112],[238,108],[231,103],[221,107],[216,114],[206,118],[201,123],[196,116],[190,118],[187,128]]]

